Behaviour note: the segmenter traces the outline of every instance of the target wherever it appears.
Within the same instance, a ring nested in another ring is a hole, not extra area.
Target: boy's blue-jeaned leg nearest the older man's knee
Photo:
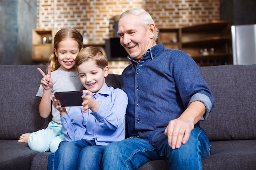
[[[78,158],[78,170],[100,170],[105,148],[99,145],[83,148]]]

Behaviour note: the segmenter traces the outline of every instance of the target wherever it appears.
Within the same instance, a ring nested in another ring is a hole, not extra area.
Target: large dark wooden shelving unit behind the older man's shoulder
[[[173,42],[175,37],[177,42]],[[228,21],[159,29],[158,42],[162,42],[166,48],[185,51],[199,66],[233,64],[231,26]]]

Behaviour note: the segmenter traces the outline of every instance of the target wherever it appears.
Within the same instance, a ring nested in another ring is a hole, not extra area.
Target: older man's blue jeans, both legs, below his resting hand
[[[128,138],[109,144],[102,158],[103,170],[136,170],[148,161],[168,160],[171,170],[202,170],[202,157],[209,156],[211,145],[200,129],[191,131],[189,141],[173,150],[166,141],[158,152],[141,138]]]

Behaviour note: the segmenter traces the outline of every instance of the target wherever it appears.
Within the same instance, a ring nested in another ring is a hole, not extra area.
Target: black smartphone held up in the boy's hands
[[[58,106],[82,106],[83,95],[82,91],[65,91],[54,93],[56,99],[58,100]]]

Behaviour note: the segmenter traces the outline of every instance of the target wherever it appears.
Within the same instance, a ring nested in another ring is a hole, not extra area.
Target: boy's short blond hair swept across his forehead
[[[105,50],[100,46],[87,46],[82,49],[76,56],[75,66],[81,65],[83,62],[93,60],[102,70],[108,66],[108,57]]]

